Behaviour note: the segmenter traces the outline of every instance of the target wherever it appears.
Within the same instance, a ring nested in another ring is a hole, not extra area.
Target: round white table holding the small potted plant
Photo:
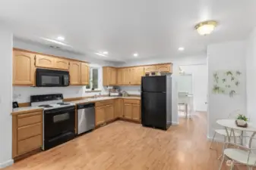
[[[226,133],[227,133],[229,142],[230,142],[230,138],[232,137],[232,134],[235,137],[234,130],[242,131],[242,134],[243,134],[243,131],[251,132],[252,134],[249,142],[249,146],[251,147],[251,139],[256,134],[256,125],[253,125],[252,123],[248,122],[248,127],[242,128],[235,125],[235,119],[219,119],[216,121],[216,123],[226,128]],[[231,129],[230,134],[229,134],[228,128]],[[234,142],[235,142],[235,138],[234,138]],[[241,143],[242,143],[242,140],[241,140]]]

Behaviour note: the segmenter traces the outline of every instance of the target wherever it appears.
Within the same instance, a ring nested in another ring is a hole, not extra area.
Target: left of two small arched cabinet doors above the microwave
[[[54,68],[54,60],[55,57],[36,54],[36,66],[38,67]]]

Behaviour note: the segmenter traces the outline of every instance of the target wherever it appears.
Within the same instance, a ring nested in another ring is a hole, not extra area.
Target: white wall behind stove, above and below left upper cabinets
[[[91,57],[87,57],[84,55],[73,54],[67,51],[59,51],[52,48],[48,48],[43,45],[33,44],[30,42],[24,42],[19,39],[14,39],[14,48],[22,48],[29,51],[36,51],[43,54],[52,54],[62,57],[74,58],[77,60],[85,60],[90,62],[90,66],[95,66],[100,68],[100,87],[102,89],[101,94],[108,94],[106,88],[103,88],[103,79],[102,79],[102,66],[112,66],[113,63],[106,62],[103,60],[93,59]],[[85,96],[93,96],[94,94],[100,94],[100,92],[96,93],[88,93],[85,92],[86,86],[77,85],[77,86],[68,86],[68,87],[58,87],[58,88],[37,88],[37,87],[22,87],[22,86],[14,86],[13,87],[13,100],[18,103],[30,102],[30,95],[37,94],[55,94],[62,93],[65,98],[69,97],[85,97]]]

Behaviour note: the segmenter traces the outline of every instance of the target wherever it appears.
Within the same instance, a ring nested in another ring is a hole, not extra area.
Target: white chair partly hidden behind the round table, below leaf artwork
[[[229,113],[229,116],[228,116],[227,119],[235,119],[239,114],[241,114],[241,110],[235,110],[232,113]],[[228,129],[228,132],[230,134],[230,132],[231,132],[230,129]],[[220,134],[221,136],[223,136],[223,143],[225,143],[228,139],[225,128],[216,128],[216,129],[214,129],[213,139],[210,142],[210,149],[212,149],[213,141],[214,141],[214,138],[215,138],[216,134]],[[235,134],[235,138],[239,137],[241,139],[241,143],[242,143],[242,138],[241,138],[242,131],[234,131],[234,134]],[[224,149],[224,147],[223,147],[223,149]]]

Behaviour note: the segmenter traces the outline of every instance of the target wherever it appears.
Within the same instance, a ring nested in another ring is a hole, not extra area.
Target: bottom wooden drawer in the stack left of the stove
[[[43,141],[41,134],[32,138],[25,139],[24,141],[19,141],[17,143],[17,154],[21,155],[32,150],[36,150],[42,146],[42,143]]]

